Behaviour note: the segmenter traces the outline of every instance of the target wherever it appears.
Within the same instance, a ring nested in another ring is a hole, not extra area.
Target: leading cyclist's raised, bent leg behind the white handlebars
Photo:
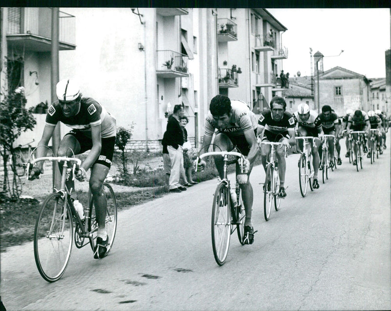
[[[73,132],[69,132],[65,134],[64,138],[60,141],[60,144],[57,149],[57,156],[69,156],[72,157],[73,155],[78,155],[81,152],[81,145],[84,145],[84,142],[79,142],[79,135]],[[87,150],[87,149],[86,149]],[[84,150],[84,151],[86,151]],[[83,151],[83,152],[84,152]],[[64,162],[59,163],[60,168],[60,174],[63,172],[63,164]],[[65,185],[68,190],[73,189],[71,193],[71,197],[73,199],[76,199],[76,192],[75,190],[75,182],[72,180],[72,176],[69,176],[67,178],[68,180],[65,181]],[[56,188],[60,189],[60,185],[56,184]]]

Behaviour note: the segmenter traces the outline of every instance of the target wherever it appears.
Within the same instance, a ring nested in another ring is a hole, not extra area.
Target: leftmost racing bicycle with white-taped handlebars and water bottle
[[[90,244],[92,251],[95,248],[98,223],[92,195],[89,191],[88,204],[85,209],[85,218],[81,219],[71,199],[72,189],[67,189],[66,178],[74,179],[76,167],[80,167],[81,160],[65,156],[44,156],[32,160],[27,164],[27,172],[40,161],[64,161],[60,190],[48,195],[42,203],[34,229],[34,257],[38,271],[43,279],[54,282],[61,278],[68,265],[73,240],[77,248]],[[72,168],[70,168],[72,166]],[[27,179],[28,179],[27,174]],[[117,203],[114,191],[108,183],[103,184],[107,199],[106,230],[109,235],[109,253],[117,228]],[[85,239],[86,242],[85,242]]]

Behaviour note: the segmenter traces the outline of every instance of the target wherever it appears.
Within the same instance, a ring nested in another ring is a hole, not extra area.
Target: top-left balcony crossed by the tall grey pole
[[[36,52],[51,50],[51,8],[8,8],[7,44]],[[75,17],[59,13],[59,50],[76,48]]]

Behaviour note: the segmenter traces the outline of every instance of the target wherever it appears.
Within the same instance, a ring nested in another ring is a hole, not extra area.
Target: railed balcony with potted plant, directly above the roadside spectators
[[[162,78],[188,77],[189,56],[172,50],[157,51],[156,74]]]

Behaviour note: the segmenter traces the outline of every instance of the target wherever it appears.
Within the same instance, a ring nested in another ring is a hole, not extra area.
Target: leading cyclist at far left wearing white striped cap
[[[98,222],[98,236],[94,249],[94,258],[103,258],[107,253],[109,237],[106,231],[107,200],[103,192],[103,182],[109,173],[114,152],[116,121],[106,109],[90,97],[82,97],[79,85],[71,79],[61,80],[57,83],[55,101],[47,110],[46,124],[38,146],[47,146],[54,132],[56,124],[61,121],[72,128],[61,140],[57,155],[72,156],[90,150],[82,162],[75,178],[83,181],[87,178],[86,171],[92,168],[89,179],[94,200],[96,220]],[[37,149],[37,157],[45,156],[44,148]],[[62,168],[62,164],[59,166]],[[43,162],[39,162],[30,172],[30,178],[37,178],[42,172]],[[62,169],[60,169],[62,172]],[[74,189],[74,181],[68,178],[66,186]],[[76,195],[72,197],[76,199]]]

